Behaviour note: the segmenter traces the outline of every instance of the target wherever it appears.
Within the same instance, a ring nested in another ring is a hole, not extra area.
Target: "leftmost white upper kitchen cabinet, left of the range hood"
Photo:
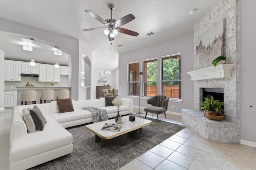
[[[5,81],[20,81],[20,62],[5,60]]]

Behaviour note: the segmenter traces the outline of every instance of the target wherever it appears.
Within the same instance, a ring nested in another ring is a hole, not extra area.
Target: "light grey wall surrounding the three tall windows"
[[[156,35],[157,36],[157,35]],[[150,38],[150,37],[148,37]],[[145,59],[152,59],[157,57],[181,53],[181,103],[169,102],[168,111],[181,113],[181,109],[194,108],[194,82],[186,73],[194,70],[194,36],[193,34],[184,35],[168,41],[157,43],[142,49],[130,51],[128,53],[119,55],[119,95],[126,97],[128,94],[128,68],[127,63],[141,61]],[[142,68],[140,68],[142,70]],[[158,67],[158,74],[160,74],[160,67]],[[121,86],[121,87],[120,87]],[[148,98],[140,98],[140,106],[148,107]],[[138,106],[138,98],[133,98],[134,106]],[[174,109],[172,109],[172,105]]]

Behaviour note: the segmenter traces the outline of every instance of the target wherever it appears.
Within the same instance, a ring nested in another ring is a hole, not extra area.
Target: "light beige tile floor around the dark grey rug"
[[[139,109],[134,107],[134,113]],[[145,116],[144,109],[140,109]],[[9,170],[12,109],[0,110],[0,170]],[[148,113],[147,117],[156,119]],[[159,120],[182,124],[180,115],[159,115]],[[255,170],[256,148],[207,141],[185,128],[126,164],[120,170]]]

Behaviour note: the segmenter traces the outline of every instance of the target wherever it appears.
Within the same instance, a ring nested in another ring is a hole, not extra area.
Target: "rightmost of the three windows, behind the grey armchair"
[[[180,99],[181,94],[181,54],[162,57],[162,94]]]

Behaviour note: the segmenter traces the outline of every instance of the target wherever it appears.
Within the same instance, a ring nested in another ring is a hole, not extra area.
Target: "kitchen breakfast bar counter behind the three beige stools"
[[[60,87],[45,87],[45,86],[16,86],[17,89],[17,105],[21,105],[21,94],[24,90],[36,90],[37,92],[37,100],[36,104],[40,104],[40,96],[43,90],[52,89],[54,90],[54,98],[56,99],[56,96],[58,95],[58,92],[62,89],[68,89],[70,91],[70,98],[71,98],[71,88],[69,86],[60,86]],[[15,90],[10,90],[15,91]],[[55,100],[54,100],[55,101]],[[44,101],[42,101],[44,103]],[[50,102],[50,100],[46,101],[47,103]],[[32,102],[27,102],[27,104],[32,104]]]

